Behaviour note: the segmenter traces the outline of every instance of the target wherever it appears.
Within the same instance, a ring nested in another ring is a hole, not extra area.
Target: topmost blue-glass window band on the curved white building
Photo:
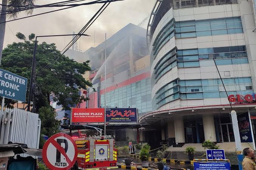
[[[171,20],[156,36],[151,63],[159,50],[174,35],[176,38],[243,33],[241,17],[174,22]]]

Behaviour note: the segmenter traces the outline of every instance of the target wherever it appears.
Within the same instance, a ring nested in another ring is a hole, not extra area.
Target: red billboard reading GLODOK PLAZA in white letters
[[[104,122],[104,108],[72,108],[72,123]]]

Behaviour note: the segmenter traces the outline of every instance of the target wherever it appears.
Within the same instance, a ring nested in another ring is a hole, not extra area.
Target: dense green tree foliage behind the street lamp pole
[[[2,68],[28,79],[27,96],[29,95],[29,82],[32,67],[35,35],[29,35],[28,41],[22,33],[17,33],[17,37],[24,39],[24,42],[9,44],[2,55]],[[62,108],[69,110],[71,105],[76,105],[88,100],[84,96],[79,96],[79,89],[91,87],[91,83],[85,80],[82,74],[90,70],[89,61],[78,63],[69,59],[56,49],[54,43],[43,42],[37,45],[37,85],[39,94],[37,95],[37,111],[43,107],[49,107],[50,95],[54,94],[53,100],[57,101]],[[57,59],[59,58],[59,59]],[[53,64],[52,64],[53,63]],[[49,65],[50,64],[50,67]],[[6,105],[12,100],[8,100]]]

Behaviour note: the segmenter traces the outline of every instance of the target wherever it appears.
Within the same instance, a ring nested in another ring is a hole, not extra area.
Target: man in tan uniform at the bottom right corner
[[[245,156],[242,162],[243,170],[256,170],[254,150],[247,147],[243,153]]]

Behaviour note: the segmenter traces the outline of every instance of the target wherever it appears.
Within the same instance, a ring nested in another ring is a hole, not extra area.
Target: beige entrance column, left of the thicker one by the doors
[[[185,143],[184,121],[182,118],[174,120],[174,132],[176,143]]]

